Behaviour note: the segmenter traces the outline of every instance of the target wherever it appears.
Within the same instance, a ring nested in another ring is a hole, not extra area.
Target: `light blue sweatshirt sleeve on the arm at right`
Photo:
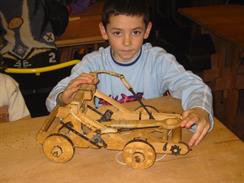
[[[214,125],[211,89],[200,77],[191,71],[186,71],[173,55],[163,56],[163,65],[160,70],[163,85],[173,97],[182,100],[184,110],[199,107],[209,113],[211,130]]]

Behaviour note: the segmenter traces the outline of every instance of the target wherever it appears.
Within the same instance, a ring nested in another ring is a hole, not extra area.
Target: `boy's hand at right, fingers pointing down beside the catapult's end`
[[[184,111],[182,114],[182,118],[182,128],[191,128],[192,125],[197,125],[196,132],[188,142],[188,145],[190,147],[198,145],[200,141],[205,137],[210,128],[208,112],[199,107],[196,107]]]

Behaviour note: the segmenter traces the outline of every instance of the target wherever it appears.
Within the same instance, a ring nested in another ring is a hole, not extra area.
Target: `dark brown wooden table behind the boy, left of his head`
[[[94,50],[104,40],[100,34],[103,1],[97,1],[87,10],[69,17],[64,34],[57,38],[56,45],[61,50],[61,62],[73,59],[74,52],[81,48]]]

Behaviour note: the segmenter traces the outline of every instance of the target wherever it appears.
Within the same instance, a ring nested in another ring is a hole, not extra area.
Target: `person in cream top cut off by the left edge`
[[[0,122],[15,121],[30,116],[17,82],[0,73]]]

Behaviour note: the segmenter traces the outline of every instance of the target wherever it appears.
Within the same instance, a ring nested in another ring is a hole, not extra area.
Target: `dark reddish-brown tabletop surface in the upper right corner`
[[[216,36],[244,48],[244,6],[190,7],[179,9],[179,12]]]

